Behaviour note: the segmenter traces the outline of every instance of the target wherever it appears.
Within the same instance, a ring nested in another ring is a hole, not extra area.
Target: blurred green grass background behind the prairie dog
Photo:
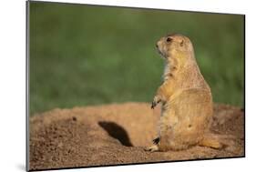
[[[244,106],[244,16],[30,2],[30,114],[151,102],[168,33],[188,35],[215,102]]]

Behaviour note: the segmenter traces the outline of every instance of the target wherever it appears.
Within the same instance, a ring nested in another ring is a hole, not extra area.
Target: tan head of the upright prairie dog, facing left
[[[185,35],[172,34],[161,37],[157,42],[159,54],[169,60],[169,58],[188,58],[186,55],[193,55],[191,41]],[[185,59],[183,59],[185,60]]]

